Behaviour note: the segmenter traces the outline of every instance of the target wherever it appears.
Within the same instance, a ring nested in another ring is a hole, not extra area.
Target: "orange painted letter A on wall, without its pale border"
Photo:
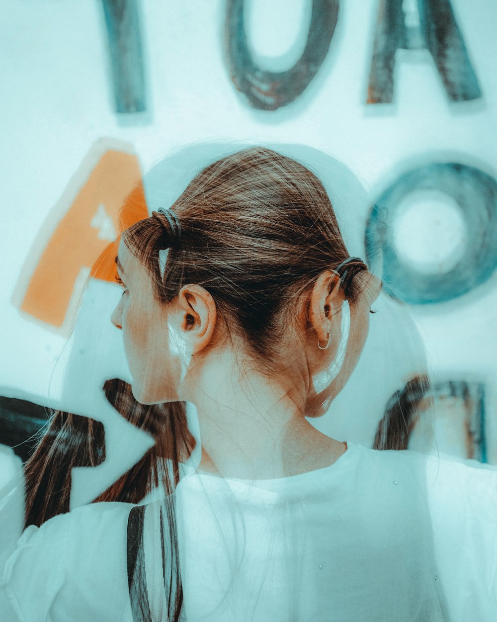
[[[126,200],[130,193],[136,200]],[[82,267],[93,266],[96,278],[114,278],[115,266],[111,272],[108,258],[113,253],[113,264],[117,243],[109,244],[108,236],[111,231],[120,232],[119,210],[125,200],[131,206],[121,215],[124,224],[148,216],[137,157],[106,151],[45,246],[22,300],[22,311],[60,327]],[[99,238],[99,233],[106,239]]]

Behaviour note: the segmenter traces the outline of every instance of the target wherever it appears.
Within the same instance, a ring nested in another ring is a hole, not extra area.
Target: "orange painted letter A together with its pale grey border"
[[[126,226],[148,215],[136,155],[113,149],[95,154],[98,151],[101,146],[96,144],[63,194],[55,229],[52,213],[40,230],[18,279],[21,301],[12,301],[22,312],[65,332],[70,328],[70,301],[81,291],[76,291],[77,283],[82,287],[81,281],[89,274],[114,279],[118,213],[124,198],[137,193],[135,204],[139,206],[136,213],[125,215]]]

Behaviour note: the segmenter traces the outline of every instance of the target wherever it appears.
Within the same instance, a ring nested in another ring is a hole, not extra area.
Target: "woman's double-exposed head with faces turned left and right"
[[[379,287],[371,287],[374,277],[360,262],[335,272],[349,254],[317,177],[293,159],[254,147],[203,169],[171,209],[180,222],[179,243],[174,221],[156,214],[124,231],[119,247],[129,292],[113,321],[126,323],[137,399],[178,399],[174,386],[190,357],[226,343],[241,347],[267,376],[300,352],[314,371],[324,368],[337,354],[347,300],[350,343],[335,379],[341,388],[362,349]],[[320,350],[328,339],[330,348]]]

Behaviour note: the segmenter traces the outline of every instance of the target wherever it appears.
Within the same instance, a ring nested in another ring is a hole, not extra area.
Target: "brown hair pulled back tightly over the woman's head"
[[[123,233],[151,276],[156,299],[168,303],[183,285],[202,285],[230,318],[230,329],[271,371],[286,329],[281,318],[292,317],[288,311],[321,272],[349,256],[322,183],[294,159],[251,147],[208,165],[171,209],[180,222],[179,244],[172,219],[157,215]],[[162,279],[159,251],[165,248]],[[355,274],[364,264],[345,269],[342,285],[355,302],[363,285]]]

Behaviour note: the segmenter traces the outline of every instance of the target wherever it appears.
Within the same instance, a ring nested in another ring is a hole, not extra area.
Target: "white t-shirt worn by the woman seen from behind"
[[[333,465],[279,480],[187,475],[175,503],[187,622],[497,620],[495,470],[348,443]],[[132,622],[133,507],[26,529],[0,582],[2,622]],[[152,612],[159,512],[145,519]]]

